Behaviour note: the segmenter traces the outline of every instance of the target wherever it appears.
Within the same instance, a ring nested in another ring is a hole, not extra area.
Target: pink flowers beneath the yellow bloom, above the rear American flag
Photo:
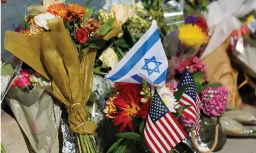
[[[196,55],[192,56],[189,59],[177,58],[176,61],[177,62],[175,62],[174,65],[174,75],[183,73],[186,66],[189,66],[189,72],[205,72],[205,79],[203,81],[207,79],[205,63],[203,63]]]

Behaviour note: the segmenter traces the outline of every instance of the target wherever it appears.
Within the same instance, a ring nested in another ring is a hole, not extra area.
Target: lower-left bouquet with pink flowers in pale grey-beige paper
[[[21,69],[8,97],[7,104],[34,152],[50,152],[59,131],[62,111],[49,85],[33,69]]]

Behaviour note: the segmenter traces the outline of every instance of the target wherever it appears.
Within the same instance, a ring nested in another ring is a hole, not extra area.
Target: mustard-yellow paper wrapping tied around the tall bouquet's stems
[[[60,18],[48,20],[51,32],[24,35],[7,31],[5,49],[52,81],[53,95],[68,112],[70,129],[92,134],[95,123],[87,121],[86,102],[92,91],[96,49],[90,49],[81,63],[78,51]]]

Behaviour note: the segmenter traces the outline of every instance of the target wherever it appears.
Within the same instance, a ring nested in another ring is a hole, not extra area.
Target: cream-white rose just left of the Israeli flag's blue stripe
[[[110,47],[104,50],[104,52],[100,55],[99,59],[107,68],[114,68],[114,66],[119,62],[117,54],[115,54],[114,49]]]

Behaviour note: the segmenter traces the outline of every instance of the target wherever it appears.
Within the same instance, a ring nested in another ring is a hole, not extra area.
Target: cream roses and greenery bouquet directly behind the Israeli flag
[[[122,3],[112,5],[111,12],[99,10],[99,18],[103,23],[115,19],[115,26],[119,27],[120,34],[111,38],[105,48],[99,49],[94,65],[95,73],[108,73],[142,37],[150,27],[147,13],[141,2],[133,7]]]

